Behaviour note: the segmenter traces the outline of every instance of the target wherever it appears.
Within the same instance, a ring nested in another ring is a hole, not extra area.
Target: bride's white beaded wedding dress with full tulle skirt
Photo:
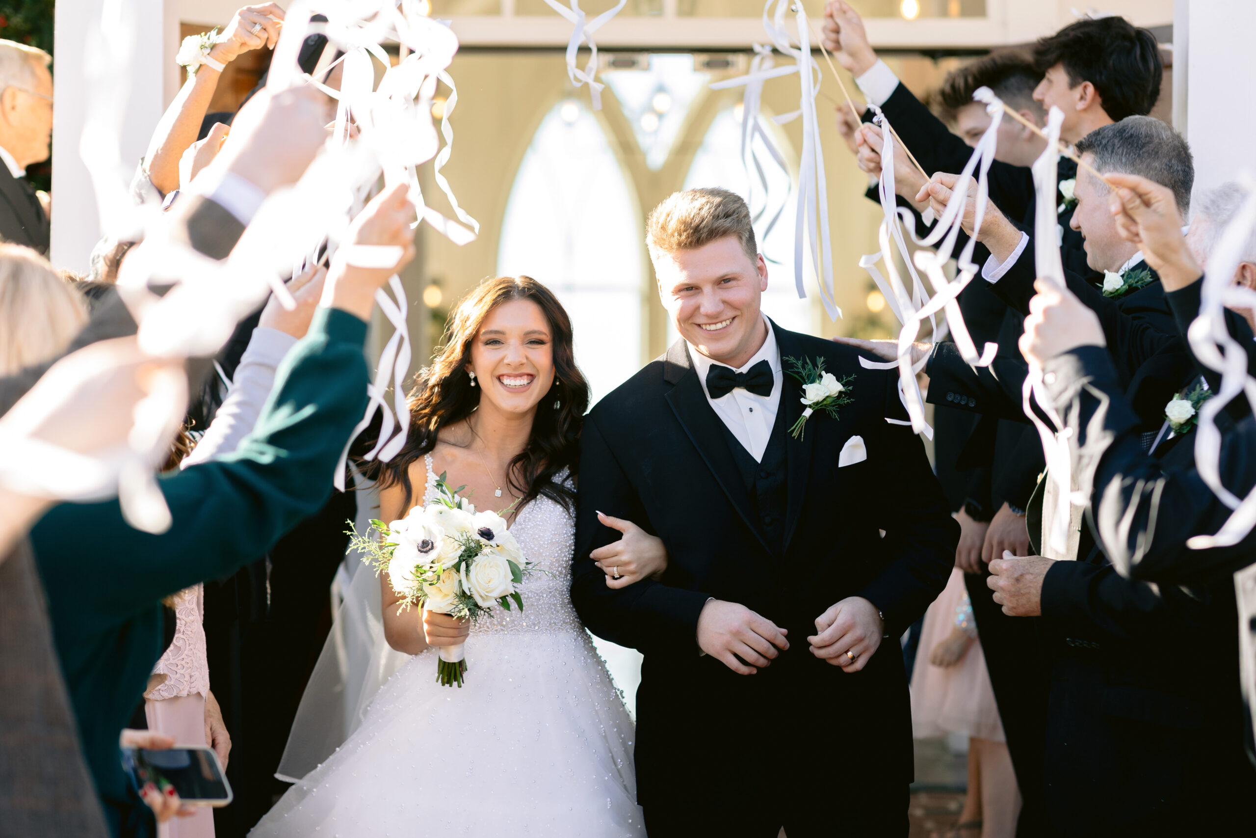
[[[431,459],[427,474],[430,501]],[[466,685],[436,682],[436,650],[412,657],[250,835],[646,834],[633,722],[568,594],[571,519],[538,498],[510,531],[548,573],[525,580],[522,613],[471,629]]]

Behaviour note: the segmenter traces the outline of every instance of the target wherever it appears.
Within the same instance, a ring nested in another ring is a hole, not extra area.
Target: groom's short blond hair
[[[646,219],[646,246],[653,261],[663,254],[693,250],[725,236],[737,236],[746,256],[755,261],[759,248],[750,207],[728,190],[672,192]]]

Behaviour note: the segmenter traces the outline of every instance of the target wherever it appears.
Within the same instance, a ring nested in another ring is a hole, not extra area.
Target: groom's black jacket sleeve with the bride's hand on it
[[[580,432],[580,503],[571,564],[571,602],[598,637],[643,653],[698,653],[698,616],[711,594],[642,579],[627,588],[607,587],[607,575],[589,553],[619,538],[598,521],[598,510],[649,529],[644,506],[607,443],[594,415]]]

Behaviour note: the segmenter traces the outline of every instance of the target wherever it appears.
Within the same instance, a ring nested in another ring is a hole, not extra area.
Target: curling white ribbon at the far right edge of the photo
[[[1240,393],[1247,397],[1250,408],[1256,413],[1256,378],[1247,373],[1247,349],[1226,328],[1227,308],[1256,308],[1256,293],[1233,280],[1247,239],[1256,227],[1256,182],[1250,172],[1243,172],[1238,181],[1247,190],[1247,196],[1208,258],[1199,294],[1199,314],[1187,329],[1194,357],[1221,373],[1216,396],[1199,406],[1196,418],[1194,465],[1208,489],[1233,511],[1216,534],[1187,539],[1187,547],[1194,550],[1238,544],[1256,525],[1256,487],[1240,499],[1221,481],[1221,430],[1217,427],[1217,415]]]

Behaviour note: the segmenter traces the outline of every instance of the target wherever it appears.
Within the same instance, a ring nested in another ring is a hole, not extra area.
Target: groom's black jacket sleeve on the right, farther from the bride
[[[893,371],[885,376],[884,416],[906,420],[898,398]],[[885,567],[857,596],[869,601],[885,618],[885,633],[898,637],[914,623],[946,587],[955,567],[955,548],[960,543],[960,524],[933,475],[921,438],[906,425],[885,422],[879,450],[869,457],[882,460],[868,487],[880,499],[879,529]]]

